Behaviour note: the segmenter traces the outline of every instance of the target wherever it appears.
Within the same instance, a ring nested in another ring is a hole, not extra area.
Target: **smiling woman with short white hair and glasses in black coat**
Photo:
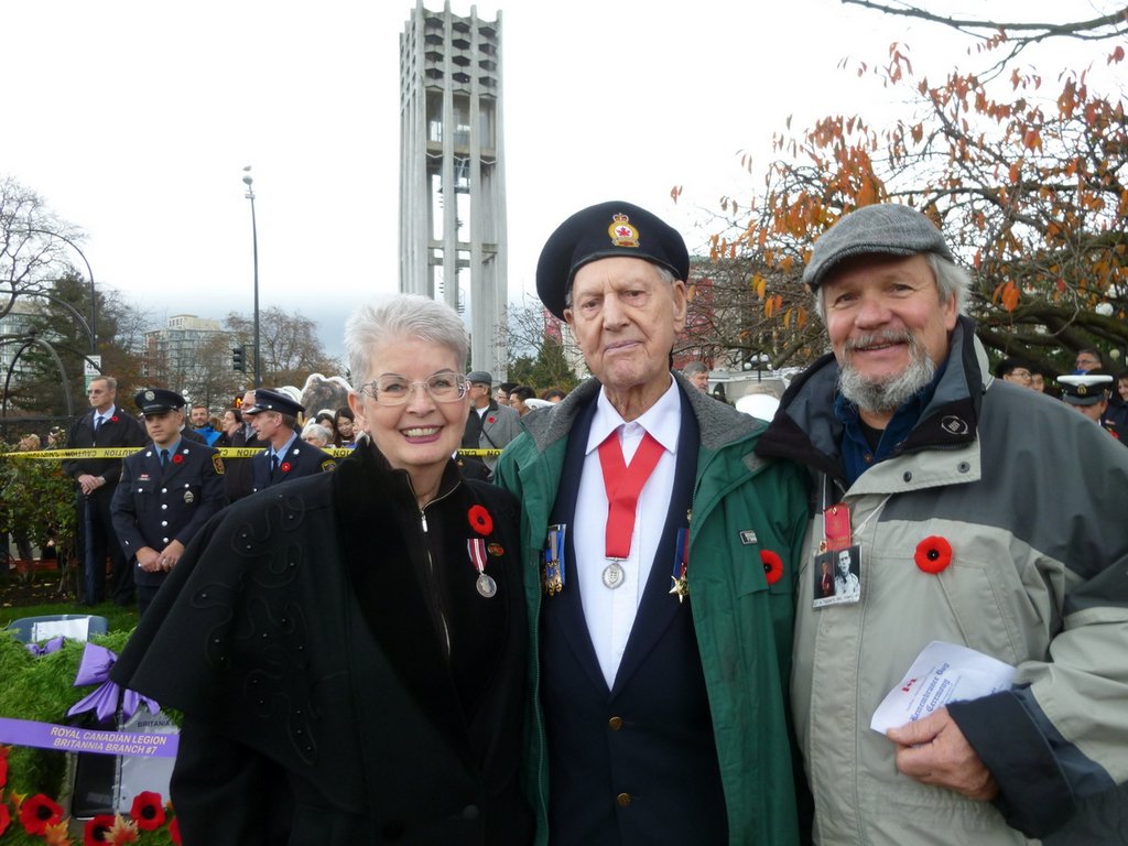
[[[451,458],[468,343],[424,297],[354,311],[356,448],[212,520],[115,664],[184,713],[187,846],[532,841],[518,504]]]

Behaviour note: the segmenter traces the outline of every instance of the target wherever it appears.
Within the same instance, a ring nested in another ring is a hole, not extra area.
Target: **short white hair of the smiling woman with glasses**
[[[402,293],[360,306],[345,323],[345,355],[353,385],[371,374],[372,350],[396,338],[418,338],[455,353],[459,371],[470,347],[462,318],[450,306],[414,293]]]

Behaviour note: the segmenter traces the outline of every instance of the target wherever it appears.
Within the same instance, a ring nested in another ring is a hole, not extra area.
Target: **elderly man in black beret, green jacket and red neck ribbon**
[[[681,236],[625,202],[571,217],[537,266],[594,376],[497,465],[523,511],[541,841],[800,840],[804,483],[754,455],[765,424],[671,373],[688,273]]]

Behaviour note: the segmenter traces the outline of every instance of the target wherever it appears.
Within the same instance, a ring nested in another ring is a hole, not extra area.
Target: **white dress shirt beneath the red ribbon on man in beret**
[[[669,555],[659,555],[656,562],[654,555],[660,552],[658,541],[670,509],[680,429],[681,397],[672,379],[666,394],[645,414],[629,423],[615,411],[603,391],[599,391],[571,529],[575,563],[569,578],[579,578],[583,616],[608,688],[615,685],[615,675],[626,651],[652,566],[656,564],[663,570],[673,570],[673,549],[669,550]],[[602,578],[610,561],[605,546],[608,506],[599,444],[615,430],[618,430],[623,447],[623,460],[628,466],[647,432],[663,447],[663,452],[638,496],[631,555],[619,562],[625,573],[623,584],[611,590],[603,584]]]

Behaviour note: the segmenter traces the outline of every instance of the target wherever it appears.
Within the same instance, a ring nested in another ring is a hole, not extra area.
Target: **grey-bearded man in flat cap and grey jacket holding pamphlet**
[[[816,841],[1123,843],[1128,453],[992,377],[924,214],[846,214],[803,277],[832,352],[757,455],[814,481],[792,711]],[[814,574],[841,554],[861,590],[828,601]],[[984,656],[1015,672],[973,694]]]

